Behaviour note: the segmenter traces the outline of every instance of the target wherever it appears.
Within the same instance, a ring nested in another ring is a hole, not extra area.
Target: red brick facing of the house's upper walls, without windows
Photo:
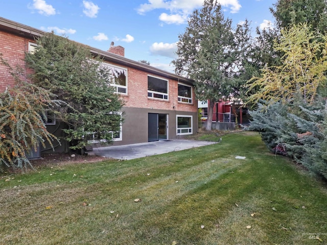
[[[8,61],[11,67],[19,65],[24,69],[24,78],[26,74],[31,70],[26,68],[24,57],[25,52],[28,51],[29,41],[24,37],[13,35],[0,31],[0,54],[3,54],[3,58]],[[120,47],[120,46],[116,46]],[[126,67],[125,67],[126,68]],[[195,100],[195,94],[193,90],[193,104],[180,103],[177,100],[178,97],[178,81],[169,80],[169,100],[149,99],[148,98],[148,75],[160,78],[160,76],[154,74],[148,74],[148,72],[140,71],[132,68],[128,70],[128,94],[122,95],[123,100],[126,102],[127,107],[136,108],[148,108],[159,110],[176,110],[176,111],[197,111],[197,103]],[[23,79],[24,79],[23,78]],[[166,78],[162,78],[166,80]],[[9,70],[6,66],[0,64],[0,92],[3,92],[7,86],[13,86],[15,83],[12,76],[9,74]]]

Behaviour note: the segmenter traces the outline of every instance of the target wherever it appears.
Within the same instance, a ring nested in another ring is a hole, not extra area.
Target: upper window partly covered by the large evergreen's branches
[[[110,86],[115,87],[117,93],[127,94],[127,69],[102,63],[110,71]]]

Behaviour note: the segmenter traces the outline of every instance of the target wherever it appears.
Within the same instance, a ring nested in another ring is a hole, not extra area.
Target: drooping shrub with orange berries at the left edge
[[[58,140],[46,130],[45,111],[60,107],[54,94],[28,83],[0,55],[0,64],[14,77],[16,86],[0,93],[0,166],[31,166],[28,154],[48,141]]]

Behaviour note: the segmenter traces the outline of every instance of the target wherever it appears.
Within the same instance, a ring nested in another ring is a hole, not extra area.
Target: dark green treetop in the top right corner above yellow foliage
[[[289,28],[298,23],[307,23],[311,31],[326,33],[327,3],[325,0],[278,0],[270,8],[277,28]]]

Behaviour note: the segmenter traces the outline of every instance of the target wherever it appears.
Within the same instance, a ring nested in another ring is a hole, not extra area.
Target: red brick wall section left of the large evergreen
[[[10,64],[12,68],[17,65],[23,68],[26,78],[26,66],[24,62],[25,51],[28,51],[29,39],[0,31],[0,54]],[[6,66],[0,64],[0,92],[5,91],[6,87],[13,86],[15,81],[10,75]]]

